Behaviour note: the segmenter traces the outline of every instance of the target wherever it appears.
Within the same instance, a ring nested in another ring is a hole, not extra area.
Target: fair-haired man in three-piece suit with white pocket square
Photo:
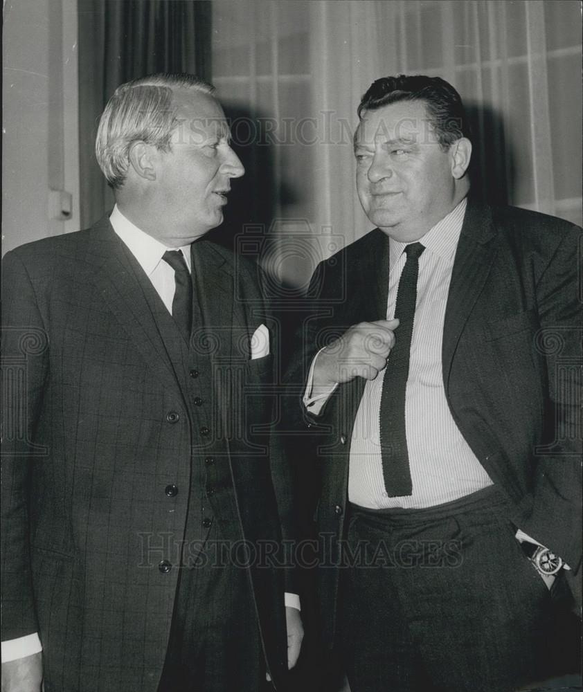
[[[5,257],[3,692],[280,690],[298,657],[265,560],[292,503],[259,432],[276,332],[258,267],[204,237],[244,173],[213,91],[120,86],[111,216]]]

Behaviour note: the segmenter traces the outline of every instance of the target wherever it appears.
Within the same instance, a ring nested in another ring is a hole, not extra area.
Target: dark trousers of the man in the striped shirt
[[[339,653],[352,692],[508,692],[548,675],[550,592],[492,486],[418,510],[350,507]]]

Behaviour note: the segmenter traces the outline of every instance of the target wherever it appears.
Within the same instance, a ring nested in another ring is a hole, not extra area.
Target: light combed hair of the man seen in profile
[[[125,182],[129,147],[142,141],[163,152],[170,150],[170,137],[177,106],[174,89],[195,89],[212,94],[215,87],[188,74],[158,73],[118,86],[101,114],[95,153],[108,185],[114,190]]]

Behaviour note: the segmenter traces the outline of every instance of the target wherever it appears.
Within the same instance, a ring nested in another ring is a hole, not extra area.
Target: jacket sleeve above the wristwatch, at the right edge
[[[543,444],[534,450],[532,513],[521,529],[562,556],[577,574],[581,564],[581,258],[583,235],[564,235],[537,284],[540,329],[534,350],[546,361],[548,401]]]

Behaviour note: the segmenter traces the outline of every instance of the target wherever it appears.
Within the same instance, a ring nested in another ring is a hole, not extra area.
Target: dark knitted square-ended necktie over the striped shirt
[[[417,300],[419,257],[424,249],[421,243],[412,243],[405,248],[407,261],[399,280],[395,305],[395,318],[400,321],[395,329],[395,345],[388,356],[381,394],[379,432],[384,484],[389,498],[411,495],[413,491],[405,430],[405,392]]]

